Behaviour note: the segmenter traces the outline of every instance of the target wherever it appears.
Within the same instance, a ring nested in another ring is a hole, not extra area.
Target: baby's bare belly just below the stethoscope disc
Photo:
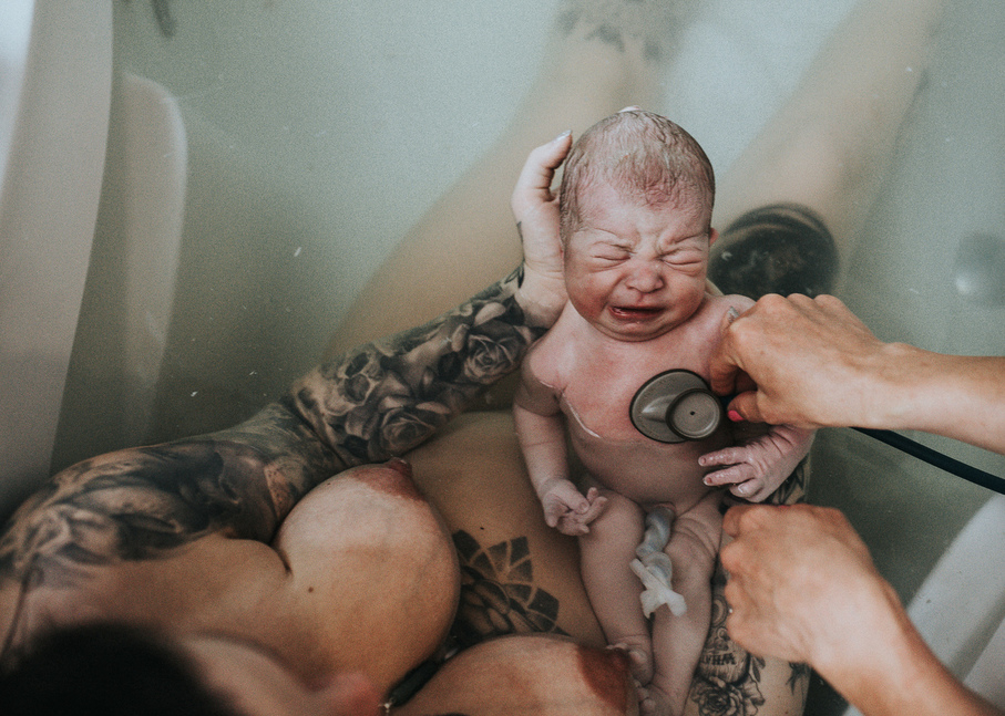
[[[594,480],[640,505],[673,505],[678,513],[712,489],[701,481],[709,468],[698,465],[698,458],[729,444],[725,430],[705,440],[659,443],[642,435],[599,438],[570,423],[573,449]]]

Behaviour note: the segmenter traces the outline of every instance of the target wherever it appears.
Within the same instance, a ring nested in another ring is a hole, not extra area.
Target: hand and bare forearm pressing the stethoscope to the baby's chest
[[[762,298],[726,331],[711,384],[745,391],[730,408],[750,421],[917,429],[1005,454],[1005,357],[883,343],[830,295]]]

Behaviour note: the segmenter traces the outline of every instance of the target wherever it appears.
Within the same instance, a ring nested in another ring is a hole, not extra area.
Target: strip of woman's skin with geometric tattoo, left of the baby
[[[407,457],[458,548],[462,643],[552,632],[605,644],[576,540],[545,525],[507,411],[463,415]]]

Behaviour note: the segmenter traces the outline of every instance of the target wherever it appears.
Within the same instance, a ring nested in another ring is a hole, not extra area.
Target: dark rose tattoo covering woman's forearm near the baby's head
[[[544,326],[515,299],[521,273],[418,329],[317,369],[291,406],[347,465],[416,447],[483,388],[514,371]]]

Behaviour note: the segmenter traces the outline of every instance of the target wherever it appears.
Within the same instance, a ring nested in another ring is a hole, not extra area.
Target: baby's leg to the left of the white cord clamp
[[[633,676],[646,684],[653,676],[653,643],[642,613],[642,583],[629,567],[643,538],[645,512],[622,495],[602,495],[607,507],[580,538],[583,583],[607,643],[625,648]]]

